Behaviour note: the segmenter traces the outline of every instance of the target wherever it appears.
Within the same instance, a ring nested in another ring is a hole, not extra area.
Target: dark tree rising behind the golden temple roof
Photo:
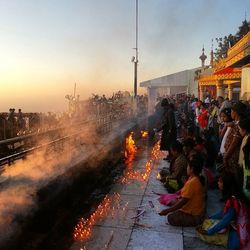
[[[224,36],[224,38],[215,38],[217,42],[217,48],[215,49],[215,60],[223,59],[227,56],[227,51],[229,48],[234,46],[243,36],[245,36],[250,31],[250,22],[244,20],[239,26],[238,31],[235,35],[229,34]]]

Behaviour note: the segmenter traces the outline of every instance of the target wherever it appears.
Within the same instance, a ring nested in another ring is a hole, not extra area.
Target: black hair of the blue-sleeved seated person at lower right
[[[231,196],[242,198],[242,189],[238,176],[230,171],[223,171],[220,178],[223,182],[222,195],[225,199]]]

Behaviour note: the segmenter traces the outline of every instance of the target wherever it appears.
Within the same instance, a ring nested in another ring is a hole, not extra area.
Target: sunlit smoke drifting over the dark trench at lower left
[[[96,155],[99,136],[95,131],[94,125],[65,129],[60,136],[79,133],[71,140],[59,143],[56,148],[44,147],[6,168],[1,175],[6,181],[0,186],[0,241],[14,234],[18,229],[18,219],[25,220],[25,216],[36,211],[37,192],[41,188],[83,162],[86,157]],[[37,144],[49,141],[47,138]],[[103,157],[105,155],[99,151],[95,162]]]

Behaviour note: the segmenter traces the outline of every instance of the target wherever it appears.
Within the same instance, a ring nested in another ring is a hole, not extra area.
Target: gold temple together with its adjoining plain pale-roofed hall
[[[206,97],[218,96],[234,100],[250,100],[250,32],[227,51],[227,57],[214,61],[213,46],[210,63],[205,64],[207,56],[199,57],[201,66],[154,78],[140,83],[147,88],[149,113],[154,110],[158,96],[178,96],[189,94],[204,101]]]

